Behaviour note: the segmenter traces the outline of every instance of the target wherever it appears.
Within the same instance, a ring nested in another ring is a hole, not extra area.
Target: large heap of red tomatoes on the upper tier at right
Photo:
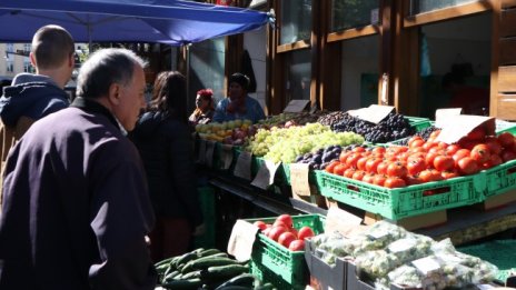
[[[343,151],[339,160],[325,170],[380,187],[400,188],[475,174],[516,159],[516,141],[509,132],[486,136],[479,127],[454,144],[435,141],[439,132],[434,131],[428,140],[411,137],[407,146],[356,147]]]

